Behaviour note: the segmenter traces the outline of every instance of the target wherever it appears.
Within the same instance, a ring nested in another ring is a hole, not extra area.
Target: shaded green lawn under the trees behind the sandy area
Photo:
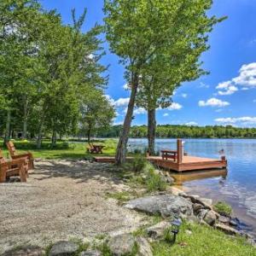
[[[30,151],[35,158],[43,159],[81,159],[84,157],[93,156],[87,153],[88,143],[67,143],[58,142],[55,148],[50,148],[50,141],[44,140],[41,149],[36,148],[36,143],[32,141],[23,142],[15,141],[15,148],[17,149],[17,154],[22,154],[24,152]],[[101,140],[93,142],[96,144],[104,145],[102,155],[114,155],[116,143],[115,139]],[[0,140],[0,145],[3,150],[3,155],[8,156],[9,152],[7,148],[3,148],[3,140]],[[101,155],[101,154],[99,154]]]

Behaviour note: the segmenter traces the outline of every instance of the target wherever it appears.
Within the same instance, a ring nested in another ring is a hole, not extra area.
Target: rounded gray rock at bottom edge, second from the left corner
[[[51,247],[49,256],[72,256],[78,249],[73,241],[58,241]]]

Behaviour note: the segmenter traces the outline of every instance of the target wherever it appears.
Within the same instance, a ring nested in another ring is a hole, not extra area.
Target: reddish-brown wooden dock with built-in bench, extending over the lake
[[[224,169],[227,167],[227,160],[224,156],[221,159],[202,158],[192,155],[184,155],[182,140],[177,140],[176,154],[168,158],[166,152],[162,156],[147,156],[147,160],[160,168],[172,170],[175,172],[189,172],[198,170],[212,170],[212,169]],[[173,153],[173,150],[170,150]],[[166,157],[167,156],[167,157]],[[114,157],[111,156],[96,156],[94,158],[96,162],[114,163]],[[127,157],[126,160],[132,160],[132,157]]]

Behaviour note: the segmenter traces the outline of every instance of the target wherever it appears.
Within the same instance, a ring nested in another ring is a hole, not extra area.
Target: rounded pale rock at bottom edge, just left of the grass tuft
[[[108,247],[114,256],[122,256],[132,253],[136,245],[136,240],[131,234],[113,236],[108,241]]]

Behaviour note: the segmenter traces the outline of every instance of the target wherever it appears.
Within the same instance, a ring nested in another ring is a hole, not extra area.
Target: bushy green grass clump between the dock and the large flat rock
[[[148,192],[153,191],[165,191],[166,190],[166,180],[160,177],[159,174],[154,172],[154,169],[148,171],[146,185]]]

